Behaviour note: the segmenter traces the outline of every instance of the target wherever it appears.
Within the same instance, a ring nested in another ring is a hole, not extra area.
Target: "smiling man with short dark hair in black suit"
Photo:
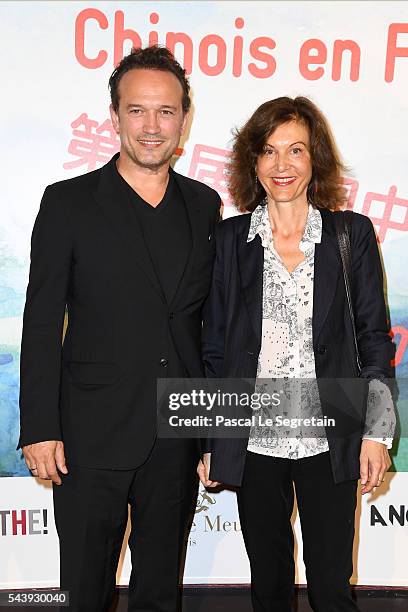
[[[109,608],[129,503],[129,610],[174,612],[199,448],[156,438],[156,380],[203,375],[220,198],[170,168],[190,108],[172,54],[134,49],[109,85],[120,154],[47,187],[33,230],[19,447],[53,481],[70,609]]]

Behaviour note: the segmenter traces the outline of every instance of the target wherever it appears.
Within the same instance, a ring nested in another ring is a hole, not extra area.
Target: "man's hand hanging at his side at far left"
[[[59,440],[47,440],[23,446],[23,454],[28,469],[33,476],[52,480],[60,485],[61,478],[57,468],[63,474],[68,474],[65,465],[64,443]]]

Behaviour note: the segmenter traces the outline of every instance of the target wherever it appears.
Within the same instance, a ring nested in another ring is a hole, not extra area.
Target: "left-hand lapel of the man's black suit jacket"
[[[165,301],[136,212],[132,210],[132,203],[125,186],[120,184],[119,177],[114,174],[116,168],[113,167],[113,164],[116,164],[117,158],[118,155],[114,155],[111,161],[101,168],[95,199],[112,230],[118,236],[127,261],[131,263],[131,266],[137,265],[143,271],[153,289]]]

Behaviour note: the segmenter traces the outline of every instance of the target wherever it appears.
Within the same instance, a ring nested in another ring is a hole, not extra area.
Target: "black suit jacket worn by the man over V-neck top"
[[[192,247],[167,304],[131,201],[114,180],[117,157],[45,190],[24,311],[19,446],[63,440],[70,463],[126,469],[154,443],[156,379],[203,374],[201,310],[220,198],[170,170]]]

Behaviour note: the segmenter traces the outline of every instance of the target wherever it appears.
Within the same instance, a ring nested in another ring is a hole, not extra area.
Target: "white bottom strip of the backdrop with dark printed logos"
[[[407,485],[407,474],[388,474],[381,492],[378,489],[371,498],[359,504],[353,583],[408,587]],[[58,586],[58,538],[52,516],[50,486],[33,478],[24,479],[24,482],[19,478],[3,478],[0,481],[0,493],[2,506],[7,500],[10,511],[10,514],[2,515],[1,533],[4,535],[0,589]],[[189,538],[184,582],[250,582],[235,495],[229,491],[208,494],[201,489],[198,503]],[[44,510],[47,516],[46,528]],[[306,578],[302,562],[302,538],[296,509],[293,519],[298,561],[296,582],[304,584]],[[44,529],[46,534],[43,533]],[[265,531],[267,529],[268,525],[265,525]],[[119,584],[128,583],[130,567],[125,542],[117,575]]]

